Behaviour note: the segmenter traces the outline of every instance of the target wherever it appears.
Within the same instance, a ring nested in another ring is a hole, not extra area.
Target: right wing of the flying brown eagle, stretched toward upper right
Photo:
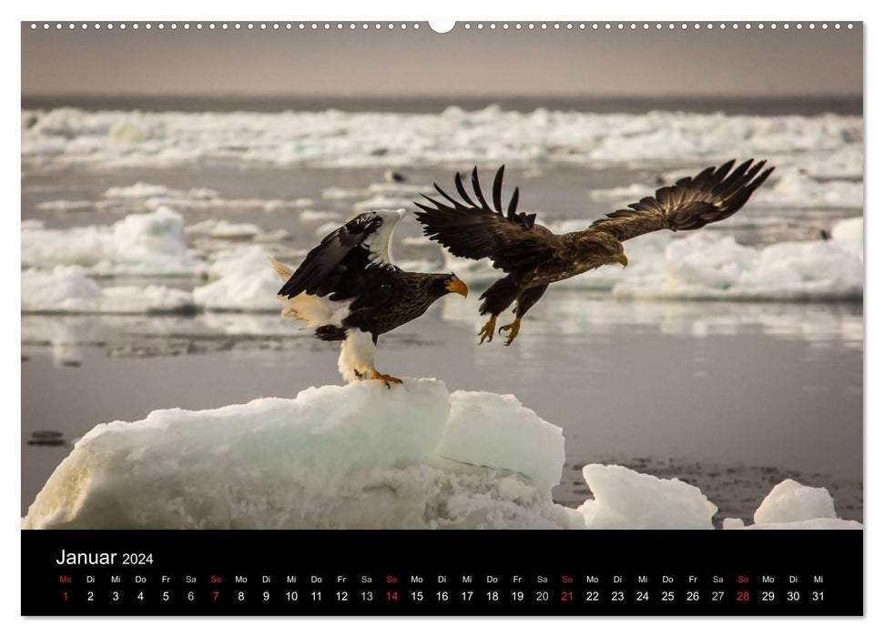
[[[679,179],[645,197],[595,221],[585,232],[605,231],[620,241],[655,230],[696,230],[727,219],[743,207],[757,187],[774,171],[762,171],[766,162],[749,159],[734,167],[731,159],[719,167],[708,167],[696,177]]]

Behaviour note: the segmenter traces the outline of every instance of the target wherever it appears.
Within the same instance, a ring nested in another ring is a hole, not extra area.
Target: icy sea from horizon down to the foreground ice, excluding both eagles
[[[407,268],[454,269],[445,298],[381,339],[378,366],[515,394],[564,428],[554,490],[616,462],[700,487],[750,518],[786,478],[862,520],[859,116],[25,111],[22,510],[98,422],[336,383],[337,348],[281,322],[266,256],[297,264],[354,212],[414,209],[433,181],[507,164],[525,209],[584,227],[673,177],[769,157],[727,222],[626,245],[630,266],[554,286],[519,339],[475,345],[493,277],[446,258],[413,218]],[[395,169],[407,179],[391,183]]]

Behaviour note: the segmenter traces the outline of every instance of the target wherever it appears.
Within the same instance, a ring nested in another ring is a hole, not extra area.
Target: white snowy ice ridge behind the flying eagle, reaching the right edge
[[[552,224],[555,232],[589,225]],[[604,266],[556,283],[575,289],[610,290],[618,298],[721,300],[856,299],[863,292],[863,217],[838,221],[828,241],[780,241],[753,247],[718,232],[685,236],[657,232],[625,244],[627,268]],[[487,260],[456,258],[442,249],[443,269],[468,283],[502,275]]]

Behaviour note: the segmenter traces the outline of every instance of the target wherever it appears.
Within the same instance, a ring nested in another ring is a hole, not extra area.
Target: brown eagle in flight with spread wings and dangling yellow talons
[[[734,168],[731,160],[720,167],[708,167],[696,177],[684,177],[672,186],[662,187],[654,197],[645,197],[629,209],[617,210],[598,219],[585,230],[556,235],[534,223],[535,215],[517,212],[519,188],[513,191],[503,213],[501,191],[503,166],[494,177],[492,204],[479,186],[479,172],[472,169],[472,191],[467,193],[458,173],[454,186],[462,201],[433,186],[444,198],[415,202],[422,209],[416,213],[423,224],[423,234],[448,248],[453,255],[465,258],[491,258],[494,268],[506,276],[497,280],[482,295],[479,311],[491,319],[479,331],[481,339],[491,340],[497,317],[515,301],[515,320],[498,330],[507,331],[506,345],[519,334],[525,312],[542,296],[550,283],[600,268],[608,263],[628,263],[623,252],[626,239],[655,230],[695,230],[706,224],[727,219],[746,204],[756,188],[764,183],[773,168],[762,170],[764,161],[747,162]]]

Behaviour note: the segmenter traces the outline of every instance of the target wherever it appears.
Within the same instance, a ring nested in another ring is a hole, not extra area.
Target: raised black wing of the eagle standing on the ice
[[[310,250],[297,270],[279,289],[279,296],[297,297],[301,292],[324,297],[340,292],[342,279],[355,280],[354,275],[371,263],[371,253],[363,241],[383,223],[380,217],[368,214],[355,217],[339,227]]]

